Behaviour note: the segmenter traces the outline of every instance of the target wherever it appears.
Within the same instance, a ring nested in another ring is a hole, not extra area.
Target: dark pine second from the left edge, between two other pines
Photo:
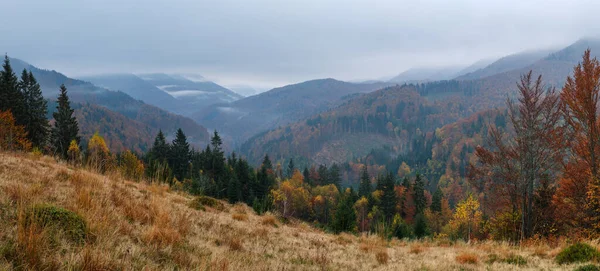
[[[21,91],[25,97],[25,129],[27,137],[34,147],[44,147],[48,139],[50,125],[46,114],[48,105],[42,96],[42,89],[31,71],[23,70],[21,75]]]

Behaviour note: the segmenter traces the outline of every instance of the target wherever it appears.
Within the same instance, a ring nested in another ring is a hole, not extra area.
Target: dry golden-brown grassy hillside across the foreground
[[[310,226],[257,216],[245,205],[222,211],[189,207],[192,197],[167,187],[74,169],[49,157],[0,152],[0,270],[571,270],[552,257],[559,247],[492,242],[384,242],[332,235]],[[30,206],[74,211],[88,225],[77,245],[26,224]],[[518,267],[485,263],[518,254]],[[457,256],[460,256],[457,258]],[[466,259],[466,260],[465,260]],[[477,261],[472,263],[459,263]],[[38,264],[32,266],[27,264]]]

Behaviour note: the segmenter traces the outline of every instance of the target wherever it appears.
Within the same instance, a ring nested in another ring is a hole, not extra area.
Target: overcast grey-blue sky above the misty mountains
[[[36,66],[260,88],[468,65],[600,33],[597,0],[1,1],[0,49]]]

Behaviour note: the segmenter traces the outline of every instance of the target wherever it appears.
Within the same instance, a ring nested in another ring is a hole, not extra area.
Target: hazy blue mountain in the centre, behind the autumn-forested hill
[[[312,80],[275,88],[230,104],[213,105],[194,114],[194,119],[239,142],[259,132],[328,110],[341,104],[349,95],[374,91],[386,85],[389,84]]]

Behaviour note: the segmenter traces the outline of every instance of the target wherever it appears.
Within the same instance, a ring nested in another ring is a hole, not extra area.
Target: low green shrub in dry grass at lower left
[[[37,205],[31,209],[28,222],[63,232],[71,241],[83,243],[87,234],[85,220],[72,211],[53,205]]]

